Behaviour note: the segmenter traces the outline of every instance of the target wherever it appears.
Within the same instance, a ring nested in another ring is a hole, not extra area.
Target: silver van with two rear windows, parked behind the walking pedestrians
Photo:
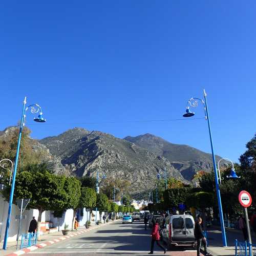
[[[161,230],[161,238],[172,246],[196,246],[194,235],[195,221],[191,215],[172,215],[165,219],[165,227]]]

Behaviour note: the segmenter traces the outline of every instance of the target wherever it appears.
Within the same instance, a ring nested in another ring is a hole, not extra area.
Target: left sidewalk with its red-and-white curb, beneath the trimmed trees
[[[114,221],[118,221],[118,220],[114,220]],[[38,249],[40,247],[45,247],[47,245],[50,245],[50,244],[53,244],[53,243],[57,243],[57,242],[60,242],[62,240],[66,240],[66,239],[69,239],[70,237],[74,237],[74,236],[79,236],[80,234],[84,233],[84,232],[88,232],[92,229],[95,229],[95,228],[99,228],[103,225],[108,225],[110,223],[113,223],[113,221],[110,221],[108,223],[105,223],[105,224],[100,224],[100,225],[93,225],[93,226],[90,226],[88,229],[85,227],[85,226],[80,226],[78,227],[78,230],[77,231],[70,231],[68,233],[68,236],[63,236],[62,232],[61,231],[58,231],[58,232],[54,232],[54,233],[47,233],[47,234],[42,234],[40,236],[40,241],[37,241],[37,244],[35,246],[30,246],[30,247],[27,247],[27,248],[23,248],[23,249],[19,249],[20,248],[20,240],[19,240],[19,247],[18,247],[18,250],[16,250],[16,246],[17,246],[17,241],[14,241],[14,242],[8,242],[7,244],[7,250],[3,250],[3,243],[0,244],[1,246],[1,249],[0,249],[0,255],[8,255],[8,254],[11,254],[11,255],[20,255],[20,254],[24,254],[24,253],[27,253],[31,250],[35,250],[35,249]]]

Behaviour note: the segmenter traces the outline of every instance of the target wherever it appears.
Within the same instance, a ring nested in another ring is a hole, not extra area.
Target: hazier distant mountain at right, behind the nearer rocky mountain
[[[212,156],[197,148],[170,143],[152,134],[124,138],[157,156],[164,157],[180,171],[184,179],[191,180],[198,170],[211,170]],[[216,160],[221,157],[216,156]]]

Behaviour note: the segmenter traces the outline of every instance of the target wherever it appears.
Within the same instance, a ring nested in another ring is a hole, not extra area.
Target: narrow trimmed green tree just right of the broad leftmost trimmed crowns
[[[66,209],[73,209],[73,220],[72,228],[74,230],[75,218],[77,209],[80,207],[80,197],[81,197],[81,182],[75,177],[67,177],[65,181],[65,190],[68,194]]]

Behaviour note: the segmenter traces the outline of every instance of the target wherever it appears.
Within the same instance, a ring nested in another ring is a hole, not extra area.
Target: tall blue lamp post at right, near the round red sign
[[[222,211],[222,205],[221,205],[221,194],[220,194],[218,173],[217,173],[215,153],[214,153],[214,144],[212,142],[211,129],[210,129],[210,119],[209,119],[209,113],[208,113],[207,99],[206,99],[206,92],[205,92],[205,90],[204,90],[204,101],[202,99],[199,99],[199,98],[191,98],[191,99],[189,99],[187,101],[186,113],[183,115],[183,117],[194,116],[195,112],[191,112],[190,109],[189,109],[189,106],[197,107],[199,102],[201,102],[203,104],[203,106],[204,106],[205,119],[208,121],[208,129],[209,129],[209,136],[210,136],[212,162],[214,164],[215,184],[216,184],[216,192],[217,192],[218,205],[219,205],[219,213],[220,213],[220,220],[221,220],[222,242],[223,242],[223,246],[227,246],[226,232],[225,232],[224,219],[223,219],[223,211]]]

